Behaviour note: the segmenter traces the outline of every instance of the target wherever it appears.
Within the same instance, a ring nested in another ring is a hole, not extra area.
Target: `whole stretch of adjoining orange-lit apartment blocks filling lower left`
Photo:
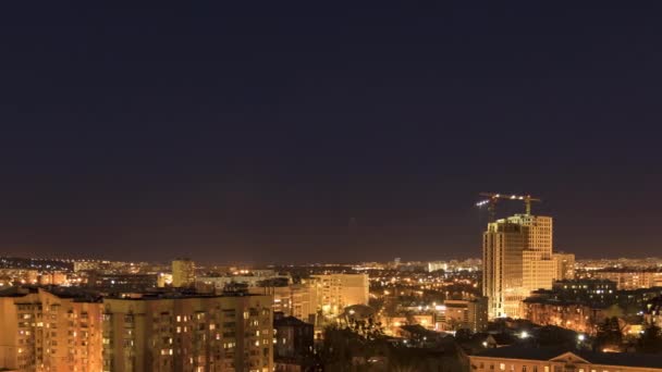
[[[273,370],[271,296],[97,296],[71,288],[0,293],[0,369]]]

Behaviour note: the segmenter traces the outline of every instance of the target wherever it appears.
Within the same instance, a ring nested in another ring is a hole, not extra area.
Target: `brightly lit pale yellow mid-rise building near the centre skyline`
[[[367,274],[312,275],[319,308],[324,313],[340,314],[352,305],[368,305]]]

